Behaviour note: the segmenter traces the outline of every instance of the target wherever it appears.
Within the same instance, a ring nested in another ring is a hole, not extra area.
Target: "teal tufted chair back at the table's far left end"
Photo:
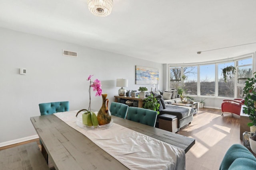
[[[69,102],[51,102],[39,104],[41,115],[50,115],[62,111],[69,111]]]

